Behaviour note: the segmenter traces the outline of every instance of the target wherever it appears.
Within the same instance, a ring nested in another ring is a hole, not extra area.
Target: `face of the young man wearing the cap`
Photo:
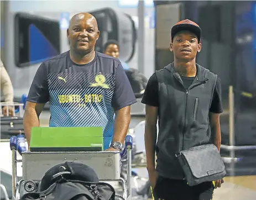
[[[195,59],[197,52],[200,52],[202,45],[194,33],[180,31],[177,33],[170,45],[176,59],[190,61]]]

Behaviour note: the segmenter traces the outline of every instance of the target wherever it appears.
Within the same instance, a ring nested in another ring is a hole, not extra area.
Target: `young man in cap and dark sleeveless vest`
[[[149,78],[142,99],[146,104],[147,169],[155,199],[211,200],[213,183],[221,187],[223,182],[190,187],[175,157],[176,152],[209,143],[211,134],[220,150],[221,83],[213,73],[196,64],[196,54],[202,48],[200,39],[201,29],[191,20],[174,25],[170,44],[174,62]]]

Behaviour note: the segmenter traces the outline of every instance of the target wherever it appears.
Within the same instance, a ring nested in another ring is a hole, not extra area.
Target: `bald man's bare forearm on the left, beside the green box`
[[[25,109],[24,117],[23,117],[23,127],[26,139],[28,141],[28,145],[30,145],[30,137],[31,137],[31,129],[32,127],[39,127],[39,119],[38,115],[34,108]]]

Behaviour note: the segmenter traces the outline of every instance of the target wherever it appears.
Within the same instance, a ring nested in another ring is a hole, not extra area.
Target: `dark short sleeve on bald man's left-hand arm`
[[[34,80],[29,90],[27,101],[47,103],[49,101],[49,88],[47,81],[48,72],[44,62],[35,73]]]

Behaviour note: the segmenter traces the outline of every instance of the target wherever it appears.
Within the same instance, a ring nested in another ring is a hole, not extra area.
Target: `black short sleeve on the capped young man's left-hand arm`
[[[156,73],[153,73],[153,75],[148,80],[142,98],[142,103],[147,104],[148,106],[159,107],[158,78],[156,76]]]

